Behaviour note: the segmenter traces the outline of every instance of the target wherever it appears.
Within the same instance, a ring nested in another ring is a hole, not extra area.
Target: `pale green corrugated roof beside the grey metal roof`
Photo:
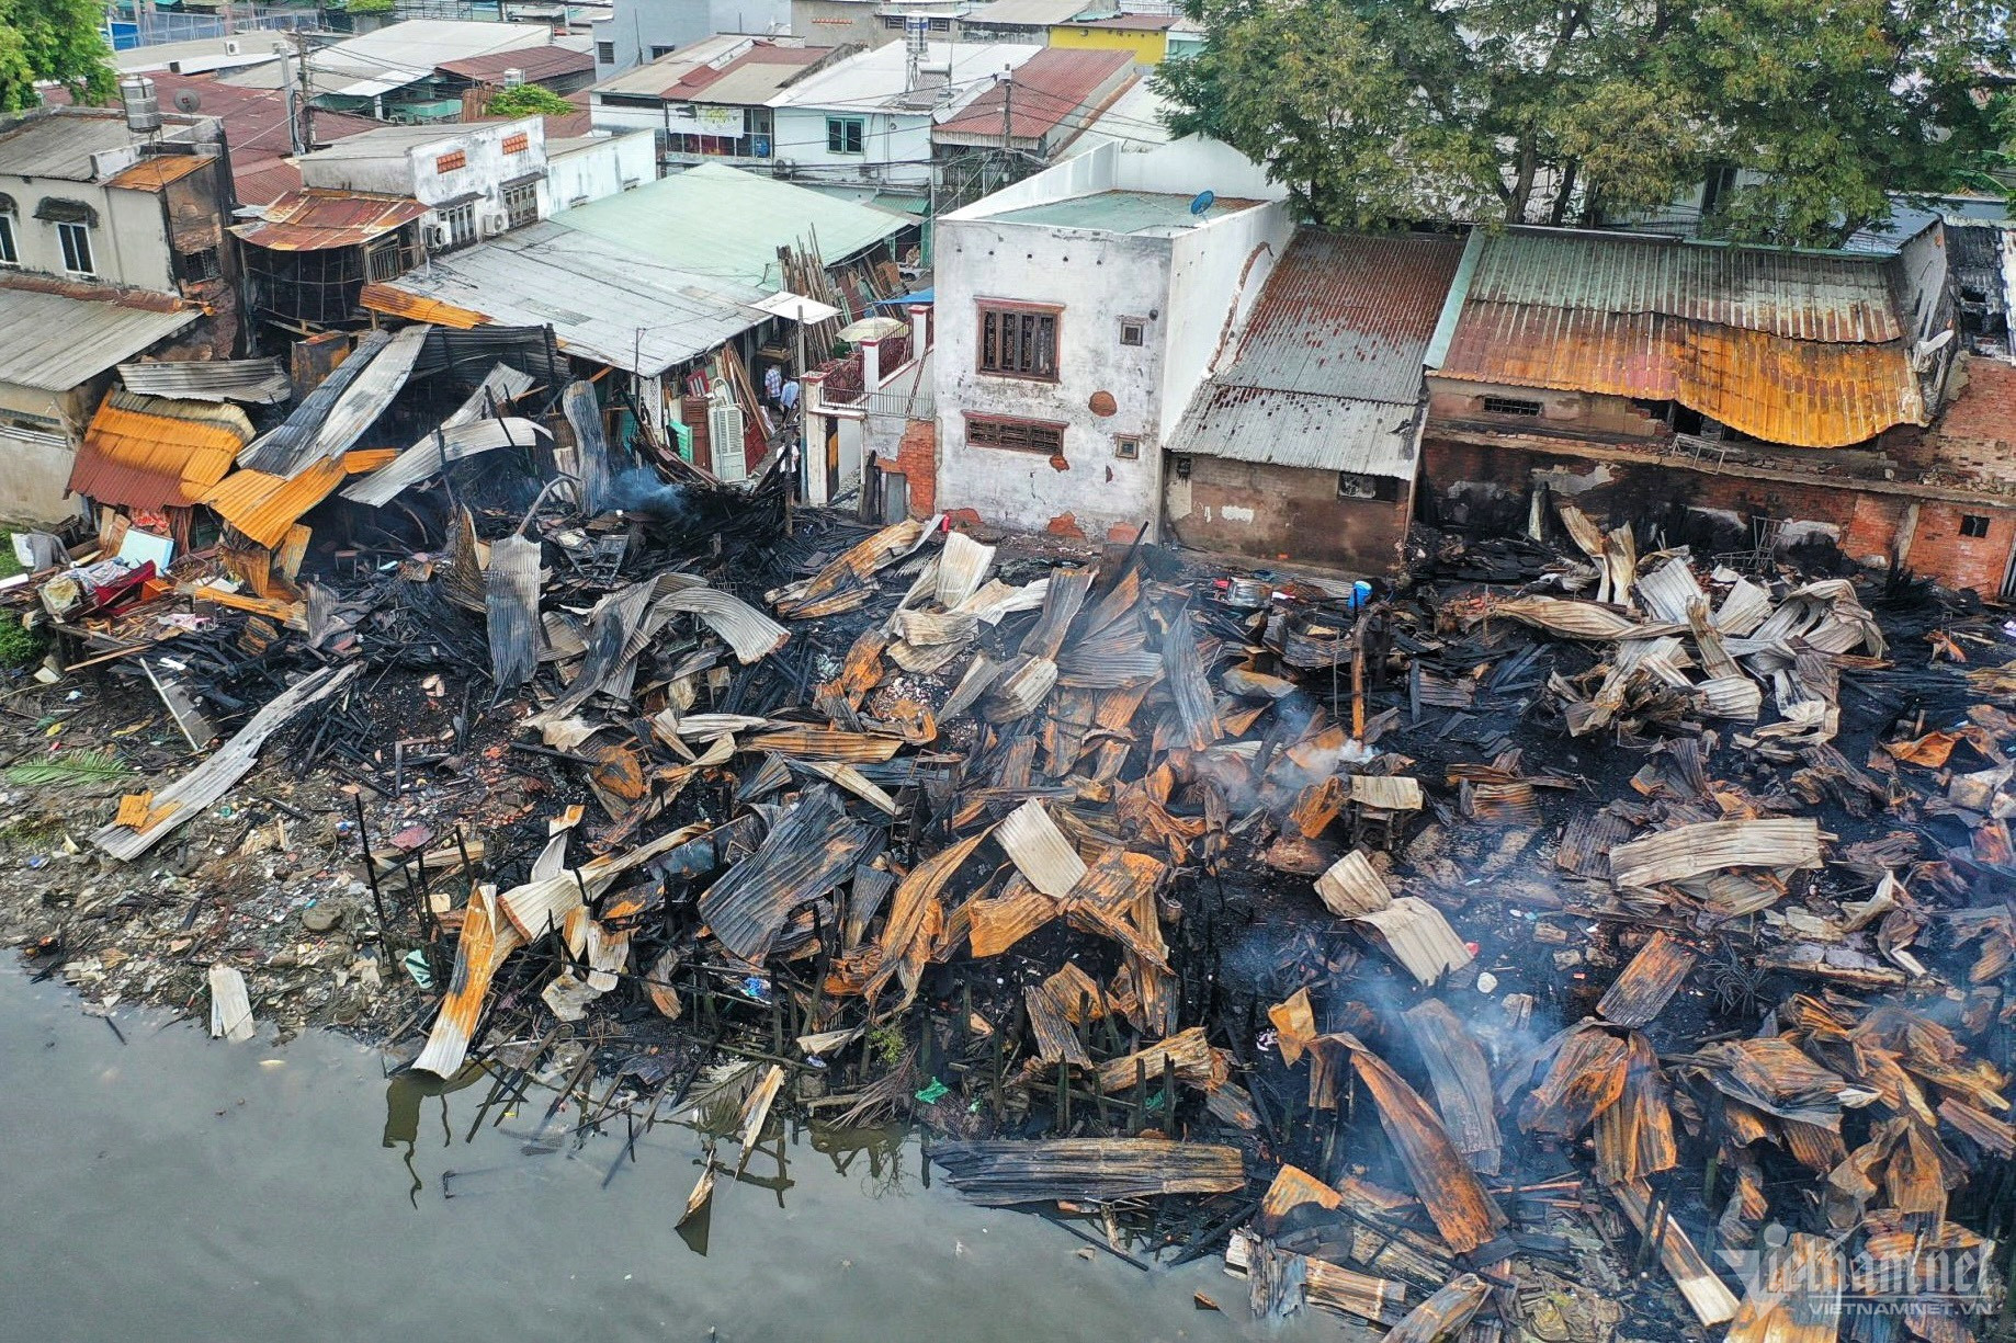
[[[833,200],[788,181],[758,177],[726,163],[683,173],[599,202],[562,210],[554,224],[609,238],[633,252],[687,270],[778,288],[776,250],[818,238],[831,266],[915,220]]]

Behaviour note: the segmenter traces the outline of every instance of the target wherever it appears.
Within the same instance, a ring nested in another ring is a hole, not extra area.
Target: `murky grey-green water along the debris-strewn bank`
[[[1254,1325],[1210,1260],[1087,1260],[1038,1218],[925,1190],[915,1143],[881,1159],[800,1133],[782,1170],[772,1143],[746,1182],[722,1176],[706,1236],[681,1236],[687,1129],[661,1123],[635,1164],[619,1137],[528,1151],[540,1103],[466,1143],[488,1087],[405,1093],[387,1119],[375,1051],[163,1022],[121,1014],[121,1045],[0,966],[0,1339],[1341,1335],[1331,1317]],[[1226,1313],[1193,1309],[1200,1289]]]

